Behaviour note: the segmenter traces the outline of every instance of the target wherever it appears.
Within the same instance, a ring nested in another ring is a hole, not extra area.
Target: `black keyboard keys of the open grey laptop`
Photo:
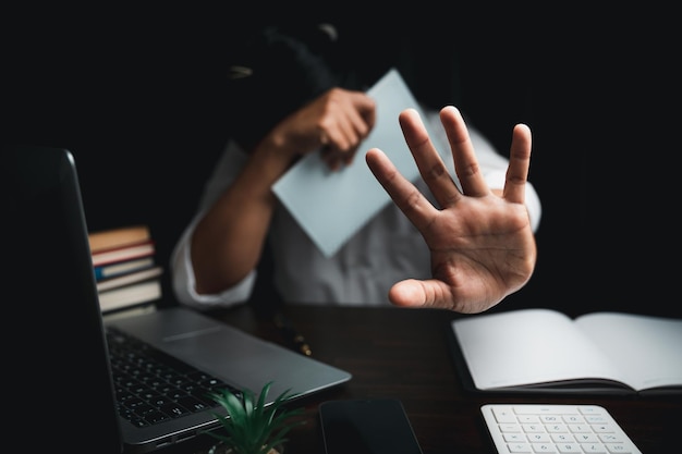
[[[134,426],[216,407],[208,394],[231,388],[112,327],[107,341],[119,414]]]

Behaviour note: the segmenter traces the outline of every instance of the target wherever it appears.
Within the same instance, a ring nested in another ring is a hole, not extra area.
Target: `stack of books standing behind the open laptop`
[[[102,314],[150,305],[161,297],[163,268],[155,261],[147,225],[126,225],[88,234]]]

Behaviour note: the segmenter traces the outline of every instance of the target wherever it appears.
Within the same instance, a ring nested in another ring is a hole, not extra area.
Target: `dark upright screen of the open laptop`
[[[12,440],[69,452],[122,443],[73,156],[5,146],[2,249],[5,405]],[[88,443],[95,444],[88,444]],[[47,446],[45,446],[47,447]]]

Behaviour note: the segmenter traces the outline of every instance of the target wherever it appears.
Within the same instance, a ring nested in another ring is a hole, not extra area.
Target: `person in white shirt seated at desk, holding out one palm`
[[[283,302],[478,312],[531,278],[540,204],[526,182],[531,132],[524,125],[513,131],[508,160],[465,126],[456,109],[439,115],[423,106],[423,120],[452,148],[454,162],[442,152],[444,171],[438,150],[424,145],[421,120],[403,112],[405,140],[427,169],[423,180],[413,186],[393,179],[390,161],[368,151],[367,163],[394,204],[332,257],[278,203],[272,184],[306,154],[321,149],[330,169],[342,171],[374,125],[376,106],[366,88],[390,68],[401,70],[407,56],[417,59],[418,52],[399,46],[415,38],[403,36],[407,32],[399,25],[394,33],[373,29],[383,38],[378,40],[361,39],[364,29],[266,27],[240,39],[245,46],[231,54],[229,82],[234,134],[172,255],[173,290],[182,304],[203,310],[248,300],[267,250]],[[373,64],[349,64],[356,61]],[[414,60],[407,69],[422,63]],[[463,191],[450,176],[455,169]]]

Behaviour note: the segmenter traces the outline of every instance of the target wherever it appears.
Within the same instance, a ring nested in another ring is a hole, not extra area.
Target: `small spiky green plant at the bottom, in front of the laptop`
[[[285,408],[288,400],[295,396],[290,390],[278,395],[265,405],[272,382],[266,383],[256,400],[251,390],[234,393],[223,389],[210,397],[227,410],[227,415],[216,414],[221,429],[208,432],[219,440],[209,454],[282,454],[287,433],[295,426],[305,424],[294,417],[303,414],[303,408]],[[241,395],[240,395],[241,394]]]

